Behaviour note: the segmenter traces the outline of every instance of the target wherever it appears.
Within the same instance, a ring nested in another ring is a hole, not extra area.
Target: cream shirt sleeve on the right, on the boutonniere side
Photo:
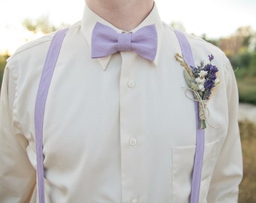
[[[227,57],[223,60],[227,92],[227,135],[209,189],[207,202],[237,202],[239,183],[242,180],[242,147],[238,126],[238,89],[233,68]]]

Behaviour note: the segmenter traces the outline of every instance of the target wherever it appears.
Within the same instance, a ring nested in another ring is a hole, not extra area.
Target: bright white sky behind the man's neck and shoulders
[[[129,0],[127,0],[129,1]],[[256,30],[256,0],[155,0],[162,20],[181,23],[188,33],[221,38],[241,26]],[[84,0],[1,0],[0,52],[13,53],[17,47],[40,37],[26,32],[24,19],[49,17],[53,25],[81,20]]]

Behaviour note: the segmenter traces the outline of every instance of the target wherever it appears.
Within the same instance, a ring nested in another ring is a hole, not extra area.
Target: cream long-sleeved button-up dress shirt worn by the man
[[[96,22],[85,6],[69,28],[50,84],[44,116],[47,202],[189,202],[196,126],[181,53],[156,5],[138,26],[155,24],[154,62],[134,52],[91,59]],[[194,60],[213,54],[220,85],[209,101],[200,202],[237,202],[242,153],[238,95],[230,62],[217,47],[187,35]],[[53,34],[29,42],[8,59],[1,91],[0,202],[38,202],[35,96]]]

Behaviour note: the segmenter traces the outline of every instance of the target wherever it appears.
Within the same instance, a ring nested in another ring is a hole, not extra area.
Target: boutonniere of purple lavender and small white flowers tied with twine
[[[184,77],[188,89],[194,94],[194,101],[199,102],[200,129],[206,129],[206,105],[212,95],[212,90],[220,83],[216,73],[218,68],[212,65],[214,56],[209,56],[209,63],[202,61],[197,67],[189,67],[184,58],[176,53],[175,59],[184,67]]]

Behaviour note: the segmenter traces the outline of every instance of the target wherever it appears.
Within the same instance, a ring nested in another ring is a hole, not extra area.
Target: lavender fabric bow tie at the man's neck
[[[102,23],[96,23],[91,47],[93,59],[118,51],[133,50],[145,59],[154,61],[157,54],[157,30],[154,25],[150,25],[134,33],[117,33]]]

